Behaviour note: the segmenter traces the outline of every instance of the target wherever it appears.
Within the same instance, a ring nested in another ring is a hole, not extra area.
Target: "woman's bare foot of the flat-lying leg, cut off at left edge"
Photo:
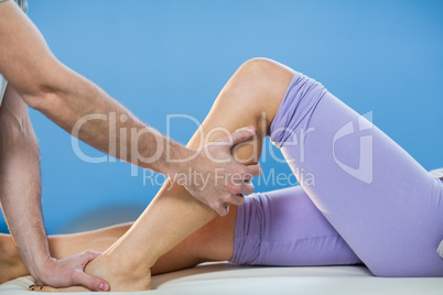
[[[26,265],[10,234],[0,233],[0,284],[29,275]]]

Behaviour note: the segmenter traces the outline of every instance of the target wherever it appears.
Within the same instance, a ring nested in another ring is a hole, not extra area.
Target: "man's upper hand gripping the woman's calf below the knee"
[[[250,179],[261,173],[260,164],[245,166],[234,160],[233,146],[251,139],[252,127],[236,130],[198,150],[186,189],[198,200],[213,208],[218,215],[229,211],[228,204],[242,205],[245,195],[253,193]],[[190,174],[190,172],[186,172]]]

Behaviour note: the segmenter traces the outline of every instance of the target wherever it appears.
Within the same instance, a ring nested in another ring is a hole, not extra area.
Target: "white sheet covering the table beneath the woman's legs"
[[[0,285],[1,295],[29,295],[31,276]],[[153,277],[153,291],[109,294],[417,294],[442,295],[443,278],[375,277],[364,266],[257,267],[206,263]],[[75,293],[80,294],[80,293]]]

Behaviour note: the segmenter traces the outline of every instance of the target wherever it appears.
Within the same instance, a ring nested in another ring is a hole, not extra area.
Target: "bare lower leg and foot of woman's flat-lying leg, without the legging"
[[[237,206],[231,206],[227,216],[216,217],[191,234],[156,261],[151,270],[152,275],[192,267],[202,262],[230,260],[234,253],[236,216]],[[122,223],[87,232],[50,236],[51,253],[63,260],[86,250],[104,252],[131,226],[132,223]],[[0,264],[4,265],[0,270],[0,283],[30,274],[10,234],[0,234]],[[84,291],[79,287],[67,291],[75,289]]]

